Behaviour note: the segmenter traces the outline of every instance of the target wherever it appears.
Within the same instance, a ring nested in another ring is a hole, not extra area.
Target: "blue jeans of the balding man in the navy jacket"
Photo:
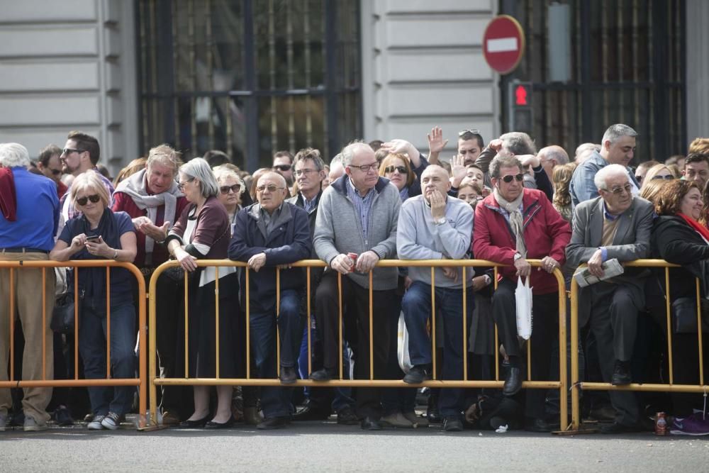
[[[277,377],[276,324],[281,338],[281,366],[297,367],[301,348],[303,325],[300,313],[301,292],[293,289],[281,291],[281,310],[276,318],[272,311],[250,314],[251,350],[256,365],[257,377]],[[290,416],[292,388],[263,386],[261,406],[265,418]]]

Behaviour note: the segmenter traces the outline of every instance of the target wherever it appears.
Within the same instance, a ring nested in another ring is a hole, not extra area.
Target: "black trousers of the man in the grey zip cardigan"
[[[397,297],[396,289],[372,291],[374,379],[386,378],[389,347],[396,343],[389,319],[396,310]],[[328,271],[316,291],[316,319],[318,335],[323,340],[323,366],[335,372],[339,372],[340,366],[339,313],[337,272]],[[354,284],[346,276],[342,276],[342,320],[344,325],[356,325],[357,343],[351,344],[356,359],[354,378],[369,379],[369,289]],[[343,334],[347,336],[347,330]],[[356,401],[359,417],[381,417],[381,389],[357,389]]]

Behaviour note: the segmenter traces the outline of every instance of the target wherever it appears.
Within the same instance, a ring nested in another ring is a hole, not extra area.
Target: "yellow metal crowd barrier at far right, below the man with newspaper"
[[[665,260],[636,260],[623,263],[625,267],[664,267],[665,277],[665,309],[666,309],[666,335],[667,335],[667,363],[669,367],[669,383],[632,383],[625,386],[613,386],[610,383],[602,382],[581,382],[579,380],[579,286],[576,279],[571,278],[571,428],[579,430],[581,425],[581,407],[579,406],[579,393],[583,389],[589,391],[666,391],[666,392],[686,392],[705,393],[709,386],[704,384],[704,364],[701,330],[701,304],[699,279],[696,279],[696,301],[697,301],[697,340],[699,346],[699,384],[674,384],[673,361],[672,361],[672,321],[671,321],[671,300],[669,296],[669,268],[680,267]],[[562,404],[563,406],[564,404]]]

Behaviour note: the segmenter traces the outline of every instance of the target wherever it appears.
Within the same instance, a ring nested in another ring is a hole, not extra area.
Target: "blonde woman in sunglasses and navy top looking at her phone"
[[[62,230],[50,259],[116,260],[133,262],[137,252],[133,222],[125,212],[108,208],[108,191],[96,172],[84,172],[74,179],[69,190],[74,208],[81,213],[69,219]],[[79,351],[84,360],[86,379],[106,377],[106,330],[111,323],[111,375],[117,379],[135,376],[135,307],[131,276],[127,269],[112,268],[110,314],[106,313],[106,269],[77,269],[81,320]],[[74,294],[74,277],[67,277],[68,294]],[[110,316],[110,318],[109,318]],[[133,392],[130,386],[89,387],[93,419],[91,430],[115,430],[125,419]]]

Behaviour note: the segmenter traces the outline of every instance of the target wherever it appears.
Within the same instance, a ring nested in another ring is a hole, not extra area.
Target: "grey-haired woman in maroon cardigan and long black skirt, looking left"
[[[167,250],[189,277],[188,362],[190,378],[235,378],[242,371],[244,344],[240,343],[239,293],[236,267],[198,267],[197,260],[223,260],[231,237],[229,216],[217,195],[219,185],[212,169],[201,157],[179,168],[179,189],[190,205],[174,224],[165,243]],[[229,189],[231,190],[231,189]],[[220,291],[216,290],[218,278]],[[216,301],[219,297],[219,372],[216,357]],[[194,413],[182,428],[228,428],[232,386],[217,386],[217,408],[209,410],[209,386],[194,386]],[[211,420],[210,420],[211,419]]]

